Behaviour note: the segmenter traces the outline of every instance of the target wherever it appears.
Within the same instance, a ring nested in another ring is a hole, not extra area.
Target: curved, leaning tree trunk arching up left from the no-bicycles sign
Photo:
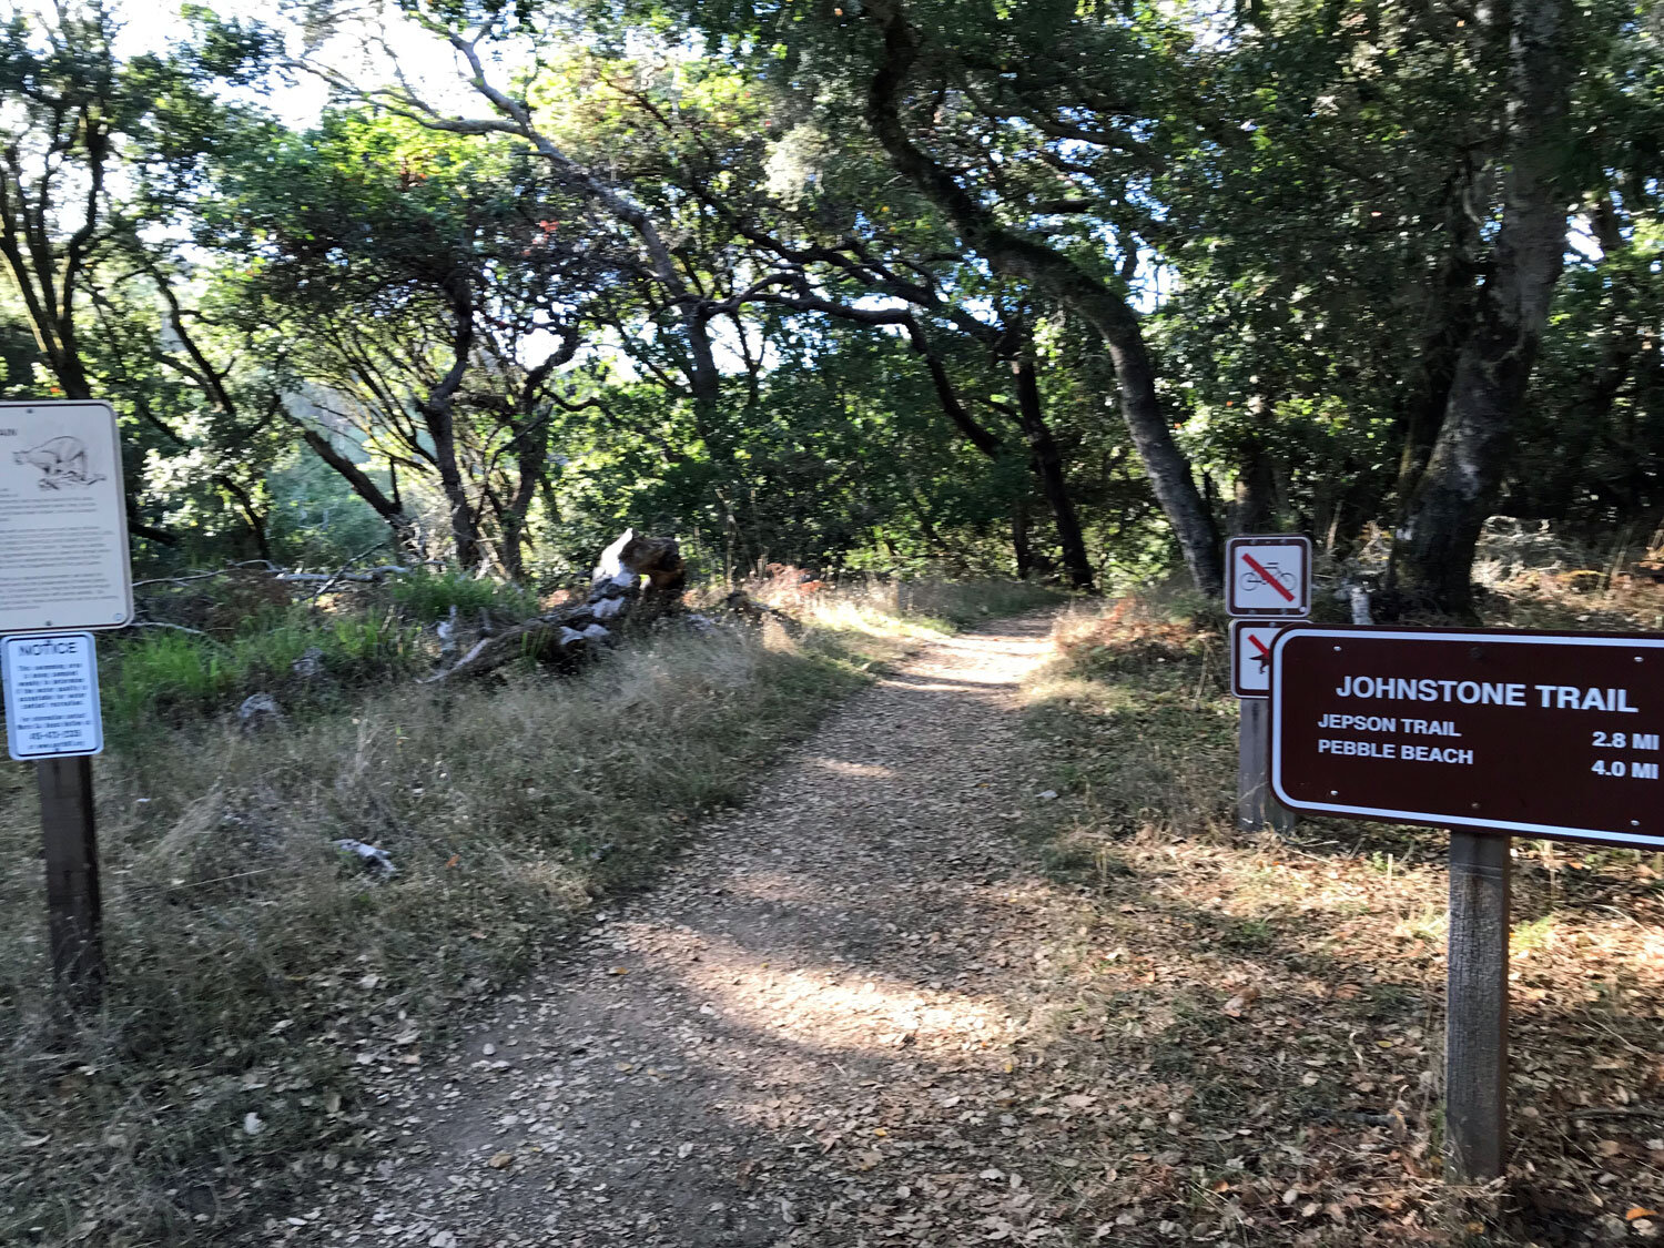
[[[1218,596],[1225,584],[1218,534],[1190,474],[1190,463],[1166,426],[1138,316],[1125,300],[1063,253],[1002,226],[948,170],[912,141],[902,121],[900,97],[919,60],[917,32],[900,0],[867,0],[864,12],[884,33],[884,57],[867,90],[867,121],[890,163],[947,213],[992,268],[1068,305],[1103,339],[1115,364],[1122,418],[1185,552],[1191,579],[1205,594]]]

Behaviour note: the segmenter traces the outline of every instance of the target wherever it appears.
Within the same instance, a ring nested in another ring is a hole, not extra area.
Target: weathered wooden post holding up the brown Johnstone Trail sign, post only
[[[1508,849],[1451,832],[1444,1155],[1458,1183],[1496,1178],[1508,1151]]]

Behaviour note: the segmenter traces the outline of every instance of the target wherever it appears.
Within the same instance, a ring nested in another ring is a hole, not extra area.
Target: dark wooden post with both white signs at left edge
[[[7,750],[33,760],[60,998],[97,1008],[103,927],[90,755],[103,750],[85,629],[133,619],[121,434],[108,403],[0,403],[0,672]]]

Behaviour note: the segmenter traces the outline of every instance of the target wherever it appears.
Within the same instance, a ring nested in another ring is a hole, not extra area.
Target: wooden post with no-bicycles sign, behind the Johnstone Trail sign
[[[1271,639],[1311,612],[1311,541],[1268,534],[1231,537],[1225,546],[1225,609],[1233,616],[1231,692],[1238,697],[1236,827],[1285,834],[1295,814],[1271,794]]]

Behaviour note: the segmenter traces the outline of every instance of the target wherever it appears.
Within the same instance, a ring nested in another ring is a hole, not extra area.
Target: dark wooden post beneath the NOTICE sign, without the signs
[[[47,850],[52,973],[68,1005],[95,1010],[103,998],[103,919],[93,829],[93,760],[42,759],[35,774]]]

